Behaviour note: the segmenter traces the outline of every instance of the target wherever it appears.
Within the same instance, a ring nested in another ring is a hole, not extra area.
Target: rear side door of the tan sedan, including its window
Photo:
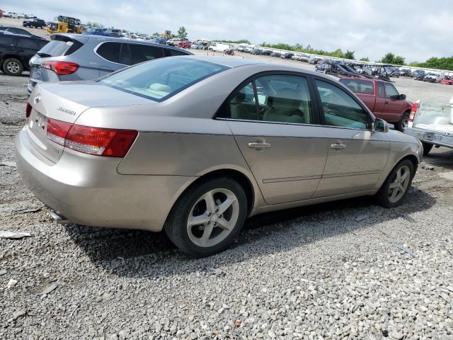
[[[266,74],[240,86],[222,106],[221,119],[228,120],[269,204],[309,199],[321,179],[327,149],[311,98],[303,75]]]

